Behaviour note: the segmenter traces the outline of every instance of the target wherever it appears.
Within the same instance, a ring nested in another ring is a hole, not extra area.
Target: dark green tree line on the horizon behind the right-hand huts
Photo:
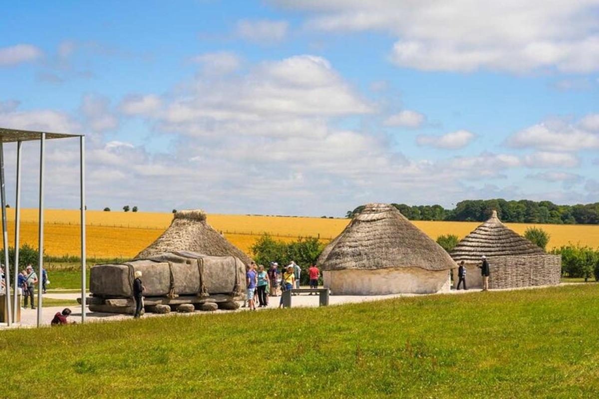
[[[498,217],[509,223],[599,224],[599,202],[586,205],[555,205],[550,201],[506,201],[504,199],[465,200],[454,209],[441,205],[392,204],[409,220],[485,221],[496,210]],[[348,211],[353,218],[364,209]]]

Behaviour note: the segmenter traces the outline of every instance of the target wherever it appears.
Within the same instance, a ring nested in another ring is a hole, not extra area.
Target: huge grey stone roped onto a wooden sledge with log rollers
[[[187,311],[189,304],[201,310],[237,309],[237,301],[243,300],[246,291],[246,266],[237,257],[165,252],[147,259],[93,266],[89,310],[133,314],[133,280],[138,270],[146,288],[146,312]]]

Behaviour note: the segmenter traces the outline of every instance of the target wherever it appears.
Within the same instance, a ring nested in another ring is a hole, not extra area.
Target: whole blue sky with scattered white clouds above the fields
[[[598,10],[7,2],[0,126],[85,133],[92,209],[596,202]],[[75,150],[49,145],[53,208],[76,206]],[[5,151],[10,184],[14,147]],[[24,205],[35,206],[35,144],[26,154]]]

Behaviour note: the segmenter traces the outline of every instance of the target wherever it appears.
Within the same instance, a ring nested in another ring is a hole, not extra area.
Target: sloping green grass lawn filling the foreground
[[[592,398],[599,286],[0,331],[0,356],[0,397]]]

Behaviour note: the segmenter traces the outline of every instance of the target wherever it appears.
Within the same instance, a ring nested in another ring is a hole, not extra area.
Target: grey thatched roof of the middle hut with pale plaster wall
[[[319,258],[323,270],[457,267],[443,248],[397,208],[381,203],[366,205],[325,251],[326,258]]]

